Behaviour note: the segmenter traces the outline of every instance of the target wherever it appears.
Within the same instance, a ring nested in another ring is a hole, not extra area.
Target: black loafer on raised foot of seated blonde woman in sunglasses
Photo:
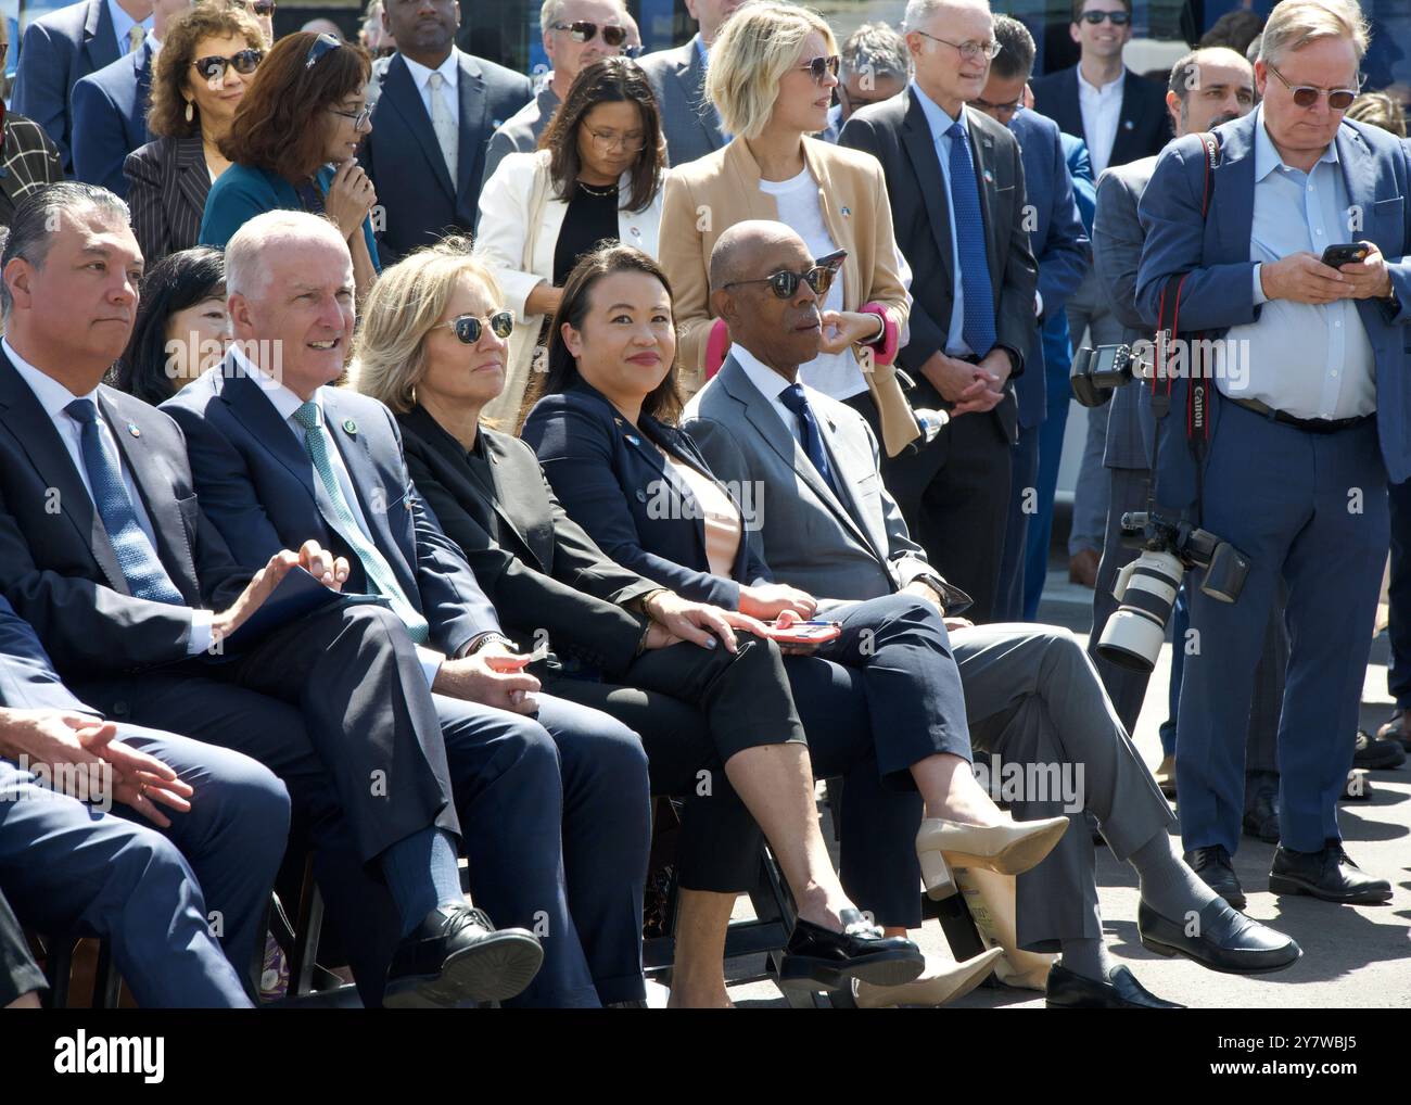
[[[854,978],[900,986],[926,968],[921,950],[906,937],[882,936],[855,909],[842,910],[841,919],[841,933],[806,920],[794,923],[779,965],[780,986],[817,984],[823,989],[841,989]]]

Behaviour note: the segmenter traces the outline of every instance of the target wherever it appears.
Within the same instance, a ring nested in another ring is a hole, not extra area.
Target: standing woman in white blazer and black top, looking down
[[[636,62],[583,69],[532,154],[508,154],[480,193],[476,255],[515,313],[505,390],[483,415],[516,430],[546,320],[580,254],[605,238],[656,257],[666,161],[652,87]]]

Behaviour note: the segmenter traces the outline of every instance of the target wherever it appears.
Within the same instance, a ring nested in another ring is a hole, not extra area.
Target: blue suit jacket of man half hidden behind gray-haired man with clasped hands
[[[1038,262],[1038,295],[1044,319],[1061,313],[1088,270],[1088,234],[1082,229],[1072,176],[1064,154],[1058,124],[1036,111],[1019,111],[1009,123],[1019,140],[1024,164],[1024,195],[1029,215],[1029,248]],[[1029,371],[1015,381],[1019,425],[1037,426],[1047,412],[1044,385],[1044,343],[1036,327],[1026,360]]]

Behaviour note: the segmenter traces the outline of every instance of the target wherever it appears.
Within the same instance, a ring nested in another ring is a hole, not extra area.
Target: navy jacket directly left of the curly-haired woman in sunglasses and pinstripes
[[[73,86],[73,175],[127,199],[123,162],[147,145],[152,44],[119,58]]]

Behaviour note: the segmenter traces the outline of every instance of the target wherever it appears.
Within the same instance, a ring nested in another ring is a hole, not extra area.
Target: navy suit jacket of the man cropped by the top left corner
[[[111,65],[124,52],[107,0],[82,0],[41,16],[24,30],[10,106],[49,133],[65,172],[73,172],[69,95],[82,78]]]

